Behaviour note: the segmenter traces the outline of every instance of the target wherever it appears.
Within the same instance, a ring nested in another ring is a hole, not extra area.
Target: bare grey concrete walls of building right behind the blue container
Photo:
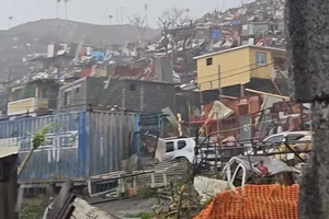
[[[117,105],[133,111],[160,113],[169,106],[175,112],[174,84],[138,80],[112,79],[107,88],[104,81],[107,78],[88,77],[60,89],[60,112],[86,111],[88,104],[106,106],[109,110]],[[75,88],[79,87],[79,94]],[[64,93],[72,91],[70,105],[64,105]]]

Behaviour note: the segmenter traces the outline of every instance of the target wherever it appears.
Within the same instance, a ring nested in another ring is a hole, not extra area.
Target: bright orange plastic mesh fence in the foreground
[[[246,185],[217,194],[194,219],[297,219],[298,192],[298,185]]]

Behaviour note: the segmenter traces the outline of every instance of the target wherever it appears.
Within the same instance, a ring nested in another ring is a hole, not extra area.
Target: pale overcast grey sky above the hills
[[[64,1],[64,0],[63,0]],[[21,23],[41,19],[56,18],[57,0],[0,0],[0,30],[15,26]],[[148,20],[150,26],[157,27],[157,18],[164,9],[172,7],[188,8],[192,18],[202,16],[204,13],[218,9],[238,5],[240,0],[69,0],[68,19],[94,23],[110,24],[109,15],[113,15],[112,24],[116,23],[116,9],[121,22],[123,8],[124,23],[133,13],[145,13],[148,5]],[[59,4],[59,18],[65,19],[65,5]],[[10,22],[9,18],[13,20]]]

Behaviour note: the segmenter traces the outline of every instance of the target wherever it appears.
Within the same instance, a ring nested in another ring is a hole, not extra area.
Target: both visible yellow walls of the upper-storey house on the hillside
[[[264,66],[256,64],[256,51],[265,54]],[[213,65],[207,66],[206,59],[211,57]],[[218,66],[220,66],[220,88],[246,84],[252,77],[271,79],[274,71],[274,57],[285,57],[285,53],[245,47],[200,58],[196,60],[197,83],[201,91],[218,89]]]

